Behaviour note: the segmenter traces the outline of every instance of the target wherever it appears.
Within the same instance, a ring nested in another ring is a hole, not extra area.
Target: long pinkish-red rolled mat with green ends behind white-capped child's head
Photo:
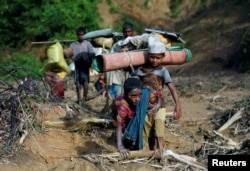
[[[189,62],[192,53],[189,49],[180,46],[167,48],[162,65],[181,65]],[[148,50],[129,51],[121,53],[109,53],[95,56],[92,67],[97,72],[114,71],[129,68],[130,66],[140,66],[148,61]]]

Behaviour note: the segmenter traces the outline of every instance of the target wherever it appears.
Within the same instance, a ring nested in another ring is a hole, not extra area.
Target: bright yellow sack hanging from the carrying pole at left
[[[47,49],[48,63],[44,65],[45,72],[70,72],[69,66],[64,60],[62,45],[56,41],[55,44],[49,46]]]

